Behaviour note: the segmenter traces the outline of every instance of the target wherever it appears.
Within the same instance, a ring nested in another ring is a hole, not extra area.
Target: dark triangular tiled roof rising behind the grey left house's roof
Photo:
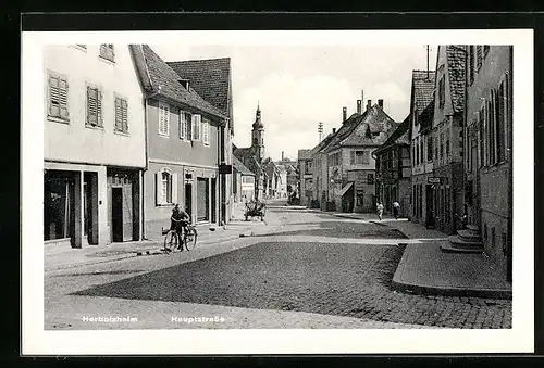
[[[198,94],[225,115],[232,114],[231,58],[166,62]],[[232,122],[231,122],[232,126]]]

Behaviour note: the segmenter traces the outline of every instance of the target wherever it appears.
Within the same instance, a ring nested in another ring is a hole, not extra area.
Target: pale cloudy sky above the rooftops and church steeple
[[[410,107],[412,69],[426,69],[426,46],[248,46],[150,45],[164,61],[231,58],[234,143],[249,147],[257,104],[264,124],[267,156],[297,158],[299,149],[319,143],[342,125],[342,107],[356,112],[384,100],[385,112],[400,123]],[[429,65],[436,64],[430,46]]]

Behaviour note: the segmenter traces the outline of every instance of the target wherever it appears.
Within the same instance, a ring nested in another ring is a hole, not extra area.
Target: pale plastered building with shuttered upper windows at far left
[[[141,239],[143,90],[126,45],[44,49],[44,240]]]

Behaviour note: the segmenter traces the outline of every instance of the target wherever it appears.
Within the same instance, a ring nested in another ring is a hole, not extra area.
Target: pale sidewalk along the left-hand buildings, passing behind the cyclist
[[[197,226],[197,248],[212,245],[240,237],[263,233],[269,228],[265,223],[261,223],[257,219],[244,221],[240,219],[237,210],[238,208],[235,210],[235,218],[224,228],[221,226]],[[69,249],[65,251],[45,250],[44,269],[47,272],[82,265],[92,265],[157,254],[160,253],[160,250],[163,248],[162,242],[163,239],[111,243],[104,246],[88,245],[84,249]]]

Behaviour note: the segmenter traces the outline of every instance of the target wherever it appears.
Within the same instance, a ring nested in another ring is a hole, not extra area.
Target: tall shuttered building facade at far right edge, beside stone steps
[[[512,48],[470,46],[467,64],[468,221],[511,280]]]

